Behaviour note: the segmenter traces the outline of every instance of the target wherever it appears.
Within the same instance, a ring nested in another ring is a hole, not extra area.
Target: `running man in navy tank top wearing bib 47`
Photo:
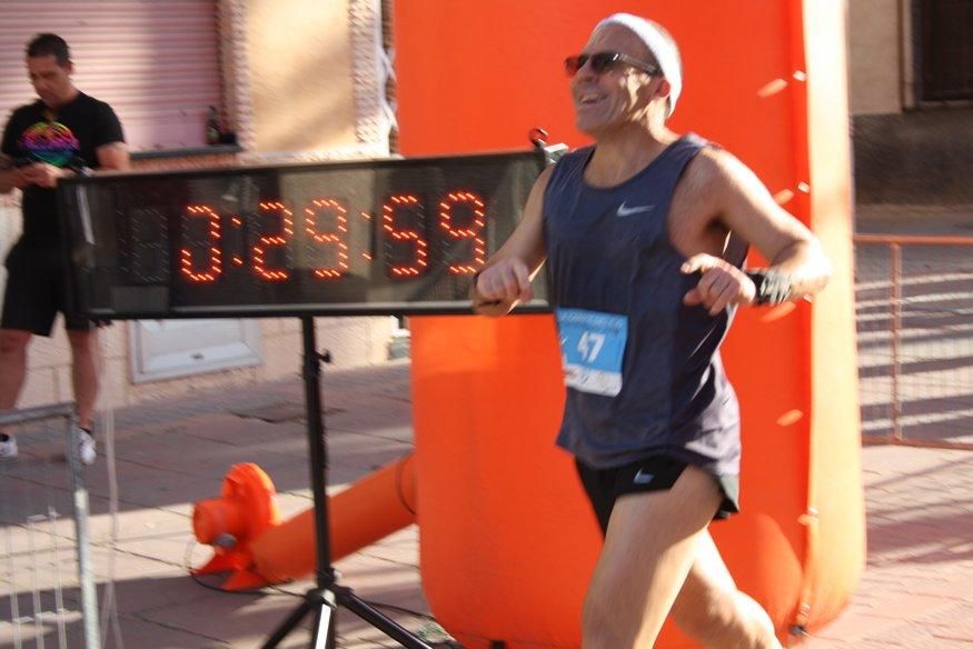
[[[718,349],[738,306],[811,296],[830,262],[736,158],[666,128],[682,64],[662,27],[610,16],[566,67],[595,144],[542,173],[473,300],[504,314],[550,264],[567,386],[558,445],[605,535],[583,646],[651,647],[672,612],[706,647],[780,649],[707,530],[738,499],[739,412]],[[737,240],[770,267],[742,270]]]

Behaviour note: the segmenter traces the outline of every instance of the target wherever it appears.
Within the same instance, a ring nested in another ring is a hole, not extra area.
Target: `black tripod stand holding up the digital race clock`
[[[310,646],[314,649],[335,647],[335,622],[338,607],[345,607],[403,647],[431,649],[409,631],[400,627],[367,602],[359,599],[350,588],[338,586],[331,566],[330,527],[328,522],[328,449],[325,438],[325,419],[320,392],[320,363],[330,362],[330,355],[318,353],[312,316],[301,316],[304,337],[304,385],[307,406],[307,437],[310,450],[311,493],[315,500],[315,532],[317,535],[317,587],[305,593],[304,601],[274,631],[264,643],[264,649],[277,647],[308,613],[314,615]]]

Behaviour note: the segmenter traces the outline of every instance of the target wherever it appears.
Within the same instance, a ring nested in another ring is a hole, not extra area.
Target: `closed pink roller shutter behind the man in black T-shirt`
[[[40,32],[71,47],[79,89],[115,108],[132,150],[206,143],[221,106],[217,0],[7,2],[0,21],[0,119],[36,99],[23,49]]]

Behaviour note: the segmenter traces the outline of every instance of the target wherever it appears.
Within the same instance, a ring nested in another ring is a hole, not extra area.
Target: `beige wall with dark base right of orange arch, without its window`
[[[858,204],[973,204],[973,107],[919,103],[917,0],[847,0]],[[962,27],[924,38],[962,39]]]

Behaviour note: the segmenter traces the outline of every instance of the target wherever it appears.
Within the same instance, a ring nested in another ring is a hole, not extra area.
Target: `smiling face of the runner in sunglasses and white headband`
[[[596,52],[619,52],[655,62],[638,37],[614,24],[596,30],[583,50],[586,54]],[[570,83],[575,123],[583,132],[598,136],[618,126],[642,122],[659,86],[659,77],[624,63],[600,74],[592,70],[590,63],[585,64]]]

